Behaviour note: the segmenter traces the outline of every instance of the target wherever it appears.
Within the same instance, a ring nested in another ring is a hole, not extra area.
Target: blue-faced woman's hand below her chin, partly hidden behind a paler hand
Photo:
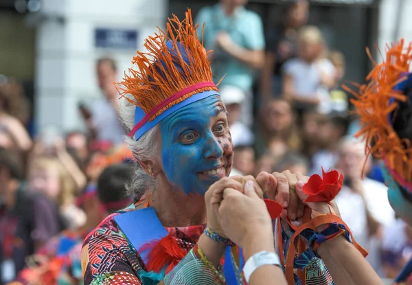
[[[223,191],[226,188],[231,188],[241,194],[243,193],[242,183],[232,178],[224,177],[212,184],[205,194],[207,226],[215,233],[218,233],[219,236],[222,236],[222,238],[227,238],[227,236],[225,236],[225,232],[220,227],[218,212],[223,198]]]

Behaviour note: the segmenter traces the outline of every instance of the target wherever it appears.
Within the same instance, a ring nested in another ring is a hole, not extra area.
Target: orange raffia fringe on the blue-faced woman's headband
[[[196,32],[198,25],[193,24],[190,9],[185,15],[183,21],[173,15],[172,19],[168,19],[165,32],[159,28],[155,36],[146,38],[144,47],[148,52],[137,51],[137,56],[132,61],[136,69],[128,69],[129,74],[125,73],[124,80],[116,84],[120,95],[133,95],[134,100],[127,100],[139,106],[146,114],[163,100],[187,87],[201,82],[213,82],[207,52]],[[172,50],[166,45],[168,41],[172,42]],[[187,54],[186,62],[179,45]],[[216,87],[203,87],[187,93],[159,110],[149,121],[174,104],[196,93],[211,90],[218,91]]]

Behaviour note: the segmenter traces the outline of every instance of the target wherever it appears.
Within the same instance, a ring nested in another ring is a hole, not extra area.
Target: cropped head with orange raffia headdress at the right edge
[[[369,51],[368,51],[369,52]],[[389,202],[396,214],[412,225],[412,43],[387,46],[386,58],[376,64],[367,83],[351,91],[366,152],[385,163]],[[412,260],[396,278],[396,284],[412,284]]]

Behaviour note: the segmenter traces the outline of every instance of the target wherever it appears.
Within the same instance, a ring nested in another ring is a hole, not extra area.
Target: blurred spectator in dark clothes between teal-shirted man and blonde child
[[[293,0],[283,13],[284,21],[271,29],[266,45],[266,56],[260,91],[262,106],[272,95],[282,93],[282,66],[284,62],[297,56],[297,34],[299,28],[308,21],[309,1]]]

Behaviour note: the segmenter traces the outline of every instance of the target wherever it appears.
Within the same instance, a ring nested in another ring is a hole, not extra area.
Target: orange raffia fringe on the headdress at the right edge
[[[351,101],[361,121],[361,130],[355,136],[366,139],[367,155],[385,159],[387,167],[394,170],[407,183],[412,183],[411,141],[400,139],[392,128],[393,122],[389,122],[389,114],[395,111],[393,120],[399,102],[407,100],[406,95],[401,91],[394,91],[393,88],[405,80],[406,76],[403,75],[409,72],[412,43],[404,45],[402,39],[396,44],[387,45],[386,50],[383,62],[374,62],[374,69],[366,78],[367,83],[358,87],[357,92],[345,86],[344,89],[355,96]],[[367,53],[371,58],[369,50]]]

